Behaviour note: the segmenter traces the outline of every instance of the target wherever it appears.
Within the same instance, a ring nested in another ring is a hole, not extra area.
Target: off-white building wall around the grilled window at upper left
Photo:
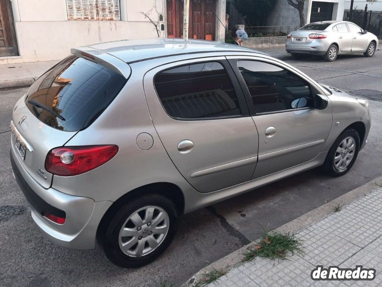
[[[154,26],[139,11],[158,21],[158,14],[165,12],[164,1],[120,0],[125,21],[88,21],[68,20],[65,0],[12,0],[21,57],[0,57],[0,64],[60,60],[70,54],[70,48],[81,45],[157,37]]]

